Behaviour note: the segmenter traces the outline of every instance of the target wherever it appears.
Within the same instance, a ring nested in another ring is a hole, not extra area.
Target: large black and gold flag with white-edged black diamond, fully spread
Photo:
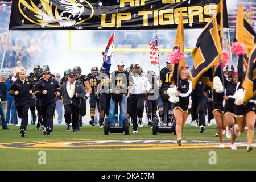
[[[204,28],[204,36],[201,39],[200,46],[197,48],[194,57],[194,67],[192,73],[192,85],[195,89],[198,81],[204,82],[213,88],[214,65],[222,59],[222,49],[220,34],[218,31],[216,16]]]

